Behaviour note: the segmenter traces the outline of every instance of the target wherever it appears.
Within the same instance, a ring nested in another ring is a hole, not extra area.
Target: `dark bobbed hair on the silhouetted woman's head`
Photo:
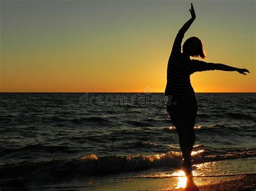
[[[203,43],[198,37],[188,38],[183,44],[182,51],[193,57],[200,56],[202,59],[206,59]]]

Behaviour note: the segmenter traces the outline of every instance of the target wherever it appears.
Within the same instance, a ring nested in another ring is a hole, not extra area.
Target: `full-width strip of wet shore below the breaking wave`
[[[0,184],[2,190],[256,190],[256,174],[226,176],[186,176],[172,178],[136,179],[124,182],[104,184],[101,186],[78,186],[71,183],[66,186],[42,185],[26,187],[18,182]]]

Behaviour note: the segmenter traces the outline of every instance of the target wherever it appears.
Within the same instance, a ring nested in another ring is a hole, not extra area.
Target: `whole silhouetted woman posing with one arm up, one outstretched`
[[[183,45],[181,53],[181,41],[185,32],[196,19],[193,4],[191,3],[191,19],[179,30],[171,51],[167,66],[167,84],[165,96],[168,97],[167,111],[178,131],[179,145],[183,155],[183,168],[186,174],[191,174],[191,152],[196,139],[194,124],[198,103],[196,94],[190,83],[190,75],[194,72],[205,70],[237,71],[240,74],[250,73],[247,69],[235,68],[221,63],[208,63],[199,60],[191,60],[190,56],[206,58],[203,44],[197,37],[188,38]]]

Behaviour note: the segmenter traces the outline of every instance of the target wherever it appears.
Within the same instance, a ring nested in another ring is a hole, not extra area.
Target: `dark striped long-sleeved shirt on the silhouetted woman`
[[[173,98],[196,98],[190,75],[194,72],[220,69],[220,64],[184,58],[181,54],[183,37],[184,32],[179,31],[173,43],[167,66],[167,84],[164,95]]]

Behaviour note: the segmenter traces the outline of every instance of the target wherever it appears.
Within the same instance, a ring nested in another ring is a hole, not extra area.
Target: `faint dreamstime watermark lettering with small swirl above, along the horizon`
[[[80,96],[80,103],[83,105],[86,104],[98,104],[98,105],[127,105],[127,104],[156,104],[156,105],[164,105],[170,104],[172,97],[164,96],[164,95],[152,95],[152,89],[147,87],[144,89],[144,93],[137,93],[135,95],[95,95],[85,93]]]

